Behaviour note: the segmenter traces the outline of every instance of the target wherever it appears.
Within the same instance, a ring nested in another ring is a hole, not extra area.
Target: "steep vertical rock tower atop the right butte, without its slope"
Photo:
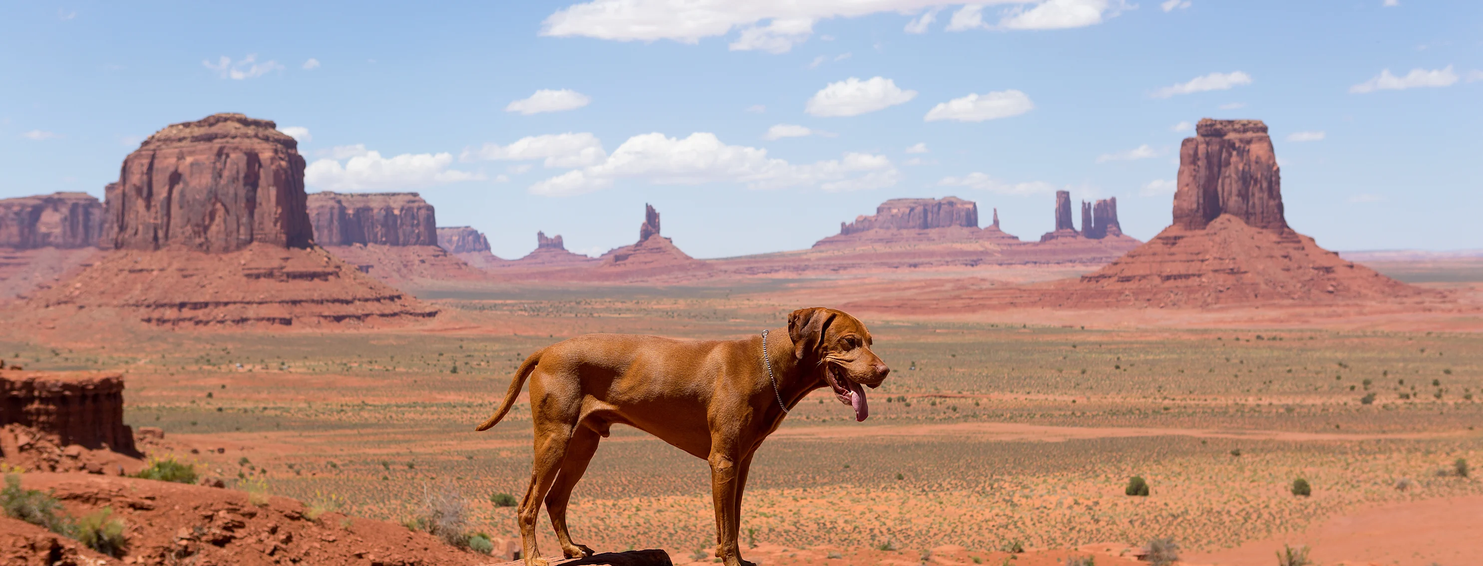
[[[1272,138],[1261,120],[1201,119],[1179,147],[1175,225],[1201,230],[1221,215],[1252,228],[1287,228]]]

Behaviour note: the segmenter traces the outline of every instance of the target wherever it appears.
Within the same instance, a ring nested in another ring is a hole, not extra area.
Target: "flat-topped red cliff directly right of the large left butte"
[[[308,218],[320,246],[437,246],[433,206],[417,193],[314,193]]]

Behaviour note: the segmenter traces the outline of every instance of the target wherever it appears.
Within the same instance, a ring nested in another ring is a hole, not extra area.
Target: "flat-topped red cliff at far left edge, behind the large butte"
[[[0,247],[95,247],[102,227],[102,203],[87,193],[0,200]]]

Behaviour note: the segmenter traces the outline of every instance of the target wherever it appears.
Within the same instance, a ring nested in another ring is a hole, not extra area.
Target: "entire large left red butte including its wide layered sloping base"
[[[113,252],[36,293],[30,311],[49,326],[113,323],[114,311],[166,326],[435,316],[313,244],[304,159],[274,127],[214,114],[145,139],[107,190]]]

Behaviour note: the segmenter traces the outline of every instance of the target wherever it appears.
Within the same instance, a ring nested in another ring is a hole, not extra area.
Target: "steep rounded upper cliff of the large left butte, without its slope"
[[[305,247],[304,159],[270,120],[212,114],[139,144],[107,190],[104,247]]]

